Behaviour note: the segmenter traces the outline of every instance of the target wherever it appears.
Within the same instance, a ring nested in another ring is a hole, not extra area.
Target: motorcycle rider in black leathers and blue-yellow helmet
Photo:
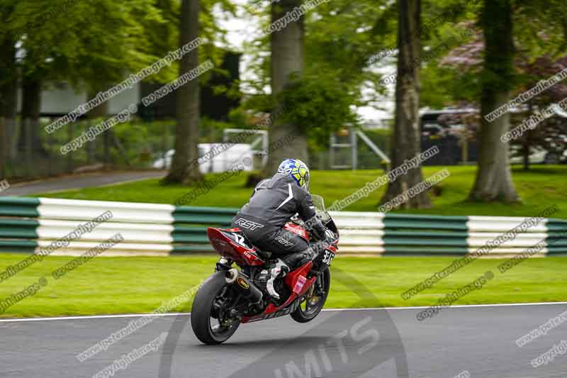
[[[279,257],[275,266],[269,271],[264,269],[259,278],[266,280],[266,289],[276,299],[279,294],[274,289],[274,280],[313,259],[322,240],[334,238],[334,233],[315,216],[309,177],[309,168],[301,160],[283,160],[274,177],[259,182],[249,202],[232,218],[232,227],[240,228],[252,244]],[[283,228],[296,214],[320,242],[310,245]]]

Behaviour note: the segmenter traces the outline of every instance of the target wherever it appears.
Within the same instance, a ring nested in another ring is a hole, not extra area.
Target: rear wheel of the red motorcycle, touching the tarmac
[[[234,335],[240,326],[240,320],[229,316],[235,294],[224,272],[211,275],[198,289],[191,308],[191,328],[202,343],[216,345]]]

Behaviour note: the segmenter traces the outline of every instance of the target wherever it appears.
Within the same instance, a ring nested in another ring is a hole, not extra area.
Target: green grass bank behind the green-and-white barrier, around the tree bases
[[[443,167],[425,167],[424,176],[429,177]],[[529,172],[514,169],[513,179],[516,189],[522,197],[522,204],[507,206],[500,203],[480,204],[468,202],[473,186],[476,167],[448,167],[451,176],[437,184],[442,188],[439,196],[432,197],[432,209],[412,210],[411,213],[429,213],[442,215],[483,215],[483,216],[533,216],[544,207],[556,204],[559,211],[556,218],[567,218],[567,165],[538,166]],[[374,181],[381,176],[381,170],[361,171],[315,171],[311,180],[312,192],[325,198],[327,206],[334,201],[349,196],[364,187],[366,182]],[[245,204],[251,189],[245,188],[247,174],[232,177],[218,184],[207,194],[199,196],[191,203],[193,206],[240,207]],[[207,177],[212,178],[211,175]],[[378,201],[386,187],[374,191],[367,198],[361,199],[347,211],[377,211]],[[63,191],[56,194],[40,194],[38,196],[64,199],[96,199],[103,201],[131,201],[157,204],[173,204],[191,187],[181,185],[162,187],[157,179],[131,182],[111,187],[88,188],[74,191]],[[404,211],[398,211],[404,212]]]

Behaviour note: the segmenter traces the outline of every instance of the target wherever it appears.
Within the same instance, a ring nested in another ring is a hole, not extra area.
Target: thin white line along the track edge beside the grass
[[[447,308],[476,308],[476,307],[512,307],[512,306],[566,306],[567,302],[539,302],[539,303],[526,303],[526,304],[464,304],[455,305]],[[368,308],[324,308],[322,311],[375,311],[375,310],[420,310],[423,308],[430,308],[430,306],[416,306],[416,307],[368,307]],[[142,316],[178,316],[190,315],[189,312],[178,313],[125,313],[120,315],[94,315],[94,316],[60,316],[52,318],[10,318],[0,319],[0,323],[15,323],[23,321],[74,321],[86,319],[105,319],[105,318],[141,318]]]

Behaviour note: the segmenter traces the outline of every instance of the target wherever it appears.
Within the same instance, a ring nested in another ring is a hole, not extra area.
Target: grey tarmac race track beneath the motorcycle
[[[286,316],[242,325],[216,346],[196,340],[189,315],[162,316],[84,362],[76,355],[138,317],[0,321],[0,377],[90,378],[137,349],[96,377],[565,378],[559,349],[539,367],[532,360],[567,340],[567,322],[521,348],[516,340],[566,310],[466,306],[423,321],[422,308],[325,311],[307,324]]]

